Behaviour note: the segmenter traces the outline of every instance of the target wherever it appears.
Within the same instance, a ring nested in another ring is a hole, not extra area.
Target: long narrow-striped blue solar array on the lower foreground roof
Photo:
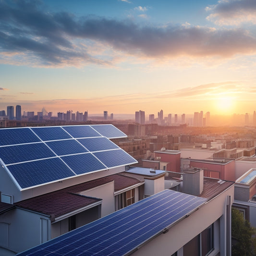
[[[19,256],[129,255],[206,201],[206,198],[164,190]]]

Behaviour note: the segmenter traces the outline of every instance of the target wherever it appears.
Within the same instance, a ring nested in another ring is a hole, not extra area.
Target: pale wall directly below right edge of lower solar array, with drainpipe
[[[214,227],[215,249],[210,253],[210,255],[217,255],[218,252],[220,255],[227,255],[225,246],[226,222],[219,223],[219,221],[222,222],[221,218],[226,220],[227,196],[232,196],[233,193],[234,186],[229,187],[226,191],[208,201],[187,218],[184,218],[180,222],[176,223],[170,228],[169,232],[161,233],[156,238],[140,247],[133,253],[133,256],[170,256],[182,248],[183,245],[187,244],[196,235],[204,231],[212,223],[215,223],[215,226],[218,225],[218,227]],[[207,218],[205,218],[205,216],[207,216]]]

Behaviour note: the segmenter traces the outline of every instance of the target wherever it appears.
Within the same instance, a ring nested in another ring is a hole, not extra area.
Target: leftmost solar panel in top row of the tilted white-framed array
[[[0,129],[0,146],[39,142],[29,128]]]

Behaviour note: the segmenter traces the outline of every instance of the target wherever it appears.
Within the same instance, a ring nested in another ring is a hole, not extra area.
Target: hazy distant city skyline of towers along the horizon
[[[117,117],[118,116],[118,117]],[[194,127],[206,127],[206,126],[216,126],[216,125],[238,125],[238,126],[256,126],[256,111],[252,115],[249,113],[245,114],[233,114],[230,118],[226,117],[221,120],[221,116],[211,116],[210,112],[207,111],[205,114],[203,111],[194,112],[194,116],[191,114],[172,114],[168,113],[167,116],[164,116],[163,110],[158,112],[158,115],[149,114],[146,119],[145,111],[139,110],[135,111],[135,115],[126,115],[127,120],[132,120],[137,124],[150,124],[156,123],[159,126],[194,126]],[[73,110],[67,110],[66,113],[58,112],[57,116],[53,116],[52,111],[47,111],[45,108],[42,111],[23,111],[22,106],[16,105],[15,115],[14,115],[14,106],[7,106],[7,111],[0,110],[0,121],[4,120],[16,120],[16,121],[72,121],[72,122],[87,122],[89,120],[118,120],[124,119],[120,118],[121,114],[117,114],[114,118],[113,113],[108,113],[108,111],[103,111],[102,115],[91,115],[88,117],[88,110],[85,112],[79,112]]]

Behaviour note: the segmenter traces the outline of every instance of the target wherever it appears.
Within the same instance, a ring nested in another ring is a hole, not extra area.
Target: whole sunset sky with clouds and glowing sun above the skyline
[[[256,110],[256,0],[0,0],[0,110]]]

